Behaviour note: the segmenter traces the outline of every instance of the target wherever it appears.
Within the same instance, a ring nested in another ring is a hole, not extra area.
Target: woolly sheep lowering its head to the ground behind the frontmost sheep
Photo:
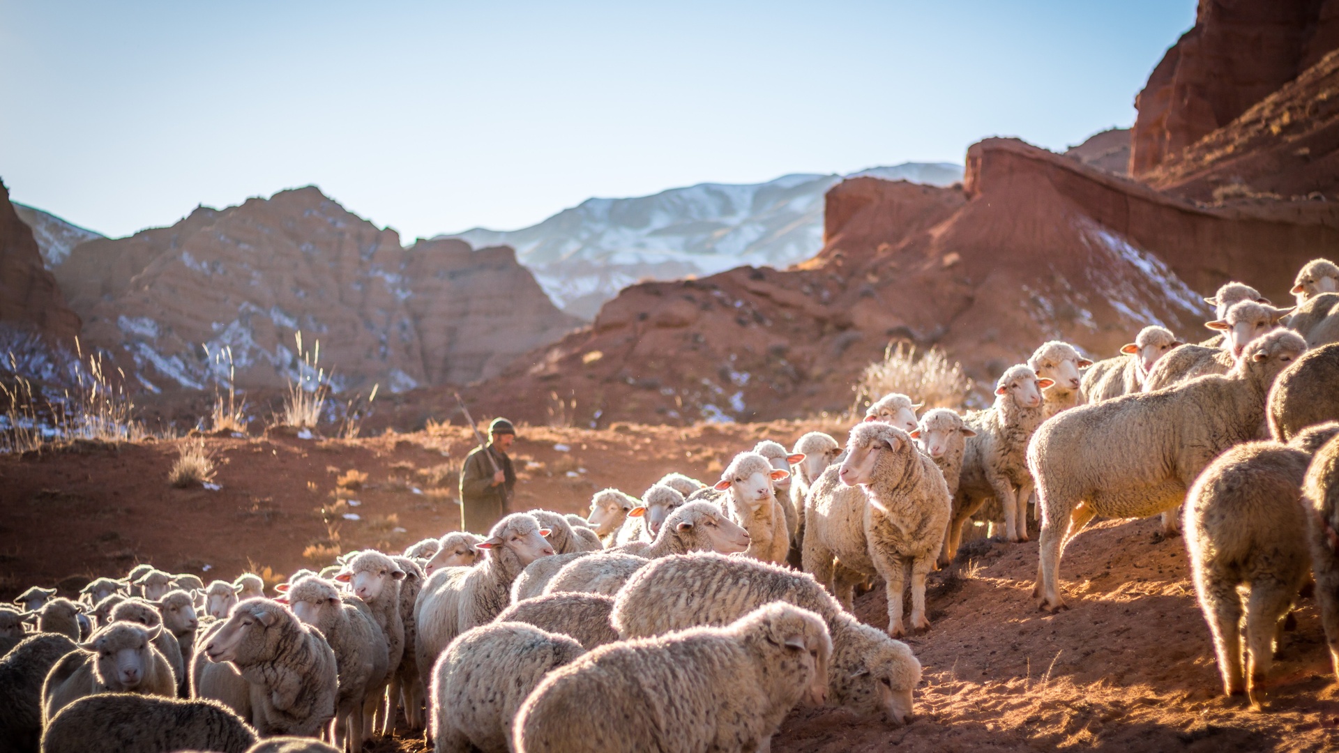
[[[678,555],[637,571],[613,602],[619,635],[648,638],[699,624],[726,624],[770,602],[818,612],[833,639],[829,702],[888,724],[912,720],[920,662],[901,640],[861,624],[811,575],[716,553]]]

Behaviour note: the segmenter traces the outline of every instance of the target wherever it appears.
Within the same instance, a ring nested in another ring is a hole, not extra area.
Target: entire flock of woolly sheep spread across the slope
[[[897,638],[931,627],[927,575],[973,517],[1027,541],[1034,492],[1043,610],[1089,521],[1162,515],[1227,693],[1259,705],[1312,572],[1339,670],[1339,267],[1292,292],[1229,283],[1198,346],[1146,327],[1093,363],[1048,342],[987,410],[885,395],[845,448],[763,441],[710,485],[352,552],[274,598],[149,565],[78,602],[31,588],[0,610],[0,753],[359,750],[400,710],[439,753],[767,750],[799,703],[908,724],[921,667]],[[886,631],[852,612],[876,576]]]

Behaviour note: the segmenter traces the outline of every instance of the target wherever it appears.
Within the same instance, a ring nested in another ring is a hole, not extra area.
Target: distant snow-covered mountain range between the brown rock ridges
[[[952,163],[870,167],[870,176],[947,186]],[[822,248],[823,194],[841,176],[793,174],[766,184],[699,184],[636,198],[589,198],[520,230],[474,228],[451,237],[510,245],[568,314],[592,319],[639,280],[676,280],[734,267],[783,268]]]

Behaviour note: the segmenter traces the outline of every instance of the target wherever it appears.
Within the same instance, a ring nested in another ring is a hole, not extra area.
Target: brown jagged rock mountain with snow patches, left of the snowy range
[[[337,387],[467,383],[577,323],[510,249],[402,248],[312,186],[80,244],[56,276],[86,342],[150,389],[206,386],[202,344],[232,348],[238,386],[284,386],[299,330]]]

